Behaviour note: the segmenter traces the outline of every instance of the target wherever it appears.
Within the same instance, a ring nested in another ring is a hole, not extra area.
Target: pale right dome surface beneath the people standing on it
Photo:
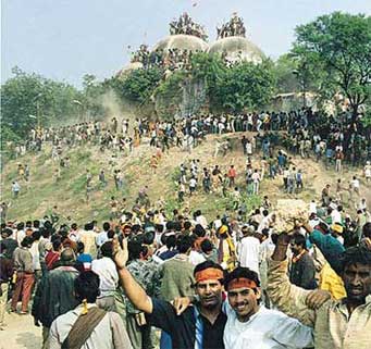
[[[210,54],[225,54],[230,62],[247,61],[261,63],[264,53],[251,41],[240,36],[231,36],[220,39],[210,46]]]

